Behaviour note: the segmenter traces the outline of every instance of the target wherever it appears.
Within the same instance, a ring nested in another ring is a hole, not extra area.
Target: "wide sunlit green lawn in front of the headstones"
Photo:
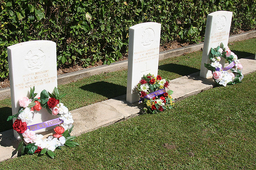
[[[57,157],[25,155],[0,169],[255,169],[256,72],[144,114],[82,134]]]

